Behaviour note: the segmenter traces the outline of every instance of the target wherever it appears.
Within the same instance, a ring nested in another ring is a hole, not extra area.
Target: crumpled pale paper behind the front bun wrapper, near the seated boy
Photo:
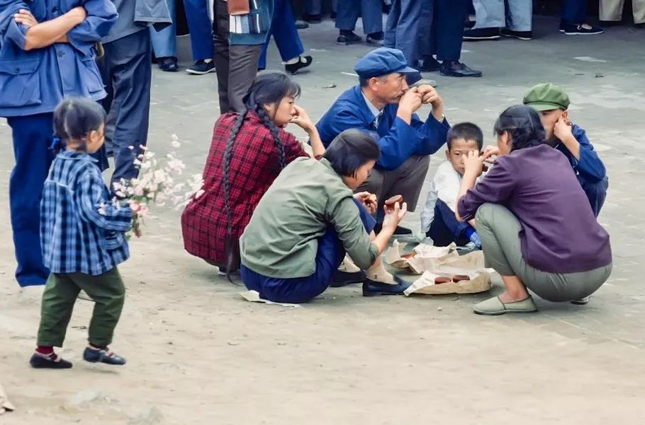
[[[401,254],[401,249],[401,244],[395,240],[386,251],[386,263],[398,269],[410,269],[414,274],[422,274],[447,258],[459,257],[454,243],[447,247],[420,244],[415,247],[415,252],[408,255]]]

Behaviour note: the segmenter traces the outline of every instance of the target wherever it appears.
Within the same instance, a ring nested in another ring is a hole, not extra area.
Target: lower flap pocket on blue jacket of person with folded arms
[[[40,59],[0,61],[0,107],[40,105]]]

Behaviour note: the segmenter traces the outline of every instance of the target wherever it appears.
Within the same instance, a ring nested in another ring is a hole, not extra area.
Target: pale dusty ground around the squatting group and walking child
[[[449,120],[473,120],[487,135],[495,114],[532,83],[548,79],[571,91],[573,120],[593,134],[610,173],[600,221],[612,235],[615,270],[589,305],[537,300],[539,313],[483,318],[471,305],[489,293],[364,298],[356,285],[301,308],[247,303],[241,286],[184,252],[179,213],[165,211],[120,267],[128,295],[113,349],[128,364],[82,361],[93,304],[79,301],[62,352],[74,368],[35,371],[27,361],[40,303],[13,280],[5,196],[0,384],[17,410],[0,424],[644,423],[645,32],[616,28],[582,40],[556,26],[539,20],[532,42],[464,44],[481,79],[432,78]],[[301,34],[316,59],[313,72],[297,77],[301,104],[315,119],[354,82],[341,72],[351,74],[367,48],[333,45],[331,23]],[[278,60],[271,50],[270,66]],[[337,88],[323,88],[330,83]],[[155,70],[154,84],[151,149],[163,153],[176,133],[189,170],[199,172],[218,114],[214,74]],[[7,193],[13,164],[4,122],[0,139]],[[440,162],[433,157],[429,177]],[[418,211],[408,224],[417,228]]]

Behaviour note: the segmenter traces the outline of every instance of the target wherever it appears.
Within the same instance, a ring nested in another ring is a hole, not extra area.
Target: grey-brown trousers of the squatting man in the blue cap
[[[403,202],[408,202],[408,211],[414,211],[428,167],[430,156],[412,156],[396,170],[372,169],[367,180],[356,192],[370,192],[378,197],[378,211],[383,210],[383,202],[389,197],[400,194]]]

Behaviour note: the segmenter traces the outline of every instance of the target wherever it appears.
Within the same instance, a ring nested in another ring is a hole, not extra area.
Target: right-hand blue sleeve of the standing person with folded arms
[[[87,0],[83,7],[87,11],[85,21],[67,33],[69,44],[89,56],[94,43],[108,35],[116,24],[116,6],[109,0]]]

